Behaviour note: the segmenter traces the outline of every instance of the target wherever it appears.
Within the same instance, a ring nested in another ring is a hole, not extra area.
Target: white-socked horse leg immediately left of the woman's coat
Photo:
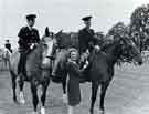
[[[63,87],[63,102],[67,103],[67,94],[66,94],[66,77],[67,75],[65,75],[63,82],[62,82],[62,87]]]

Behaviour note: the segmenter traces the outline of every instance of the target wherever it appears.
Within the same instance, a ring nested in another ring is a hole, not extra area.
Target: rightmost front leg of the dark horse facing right
[[[105,95],[106,95],[106,90],[109,85],[109,82],[105,82],[102,83],[102,87],[100,87],[100,104],[99,104],[99,108],[100,111],[104,113],[105,107],[104,107],[104,100],[105,100]]]

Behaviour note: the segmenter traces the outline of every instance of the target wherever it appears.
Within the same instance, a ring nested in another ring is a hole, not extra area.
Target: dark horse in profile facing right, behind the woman
[[[64,33],[58,34],[58,39],[62,39],[63,37]],[[66,53],[63,58],[66,58]],[[94,114],[94,104],[97,97],[97,91],[99,85],[102,86],[99,113],[104,114],[104,100],[107,87],[109,86],[114,77],[114,66],[118,61],[121,61],[123,59],[135,60],[139,65],[142,63],[140,51],[138,50],[136,44],[129,39],[120,38],[119,40],[103,46],[99,52],[96,52],[95,50],[92,51],[89,55],[89,65],[83,73],[84,77],[89,77],[92,83],[92,101],[89,107],[91,114]],[[64,68],[62,69],[64,70]],[[65,81],[63,81],[63,83]]]

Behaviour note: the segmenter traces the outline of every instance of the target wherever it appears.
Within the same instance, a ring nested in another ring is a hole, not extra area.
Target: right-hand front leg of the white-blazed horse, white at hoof
[[[42,84],[42,96],[41,96],[41,103],[42,103],[42,107],[41,107],[41,114],[45,114],[45,100],[46,100],[46,91],[47,91],[47,86],[49,86],[49,82]]]

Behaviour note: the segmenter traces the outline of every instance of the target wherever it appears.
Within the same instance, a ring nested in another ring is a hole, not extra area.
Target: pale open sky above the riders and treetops
[[[81,20],[93,15],[92,28],[107,32],[113,24],[130,21],[136,7],[149,3],[149,0],[0,0],[0,46],[9,39],[17,46],[18,32],[26,25],[25,15],[38,15],[35,28],[40,35],[45,27],[50,31],[78,31],[83,28]]]

